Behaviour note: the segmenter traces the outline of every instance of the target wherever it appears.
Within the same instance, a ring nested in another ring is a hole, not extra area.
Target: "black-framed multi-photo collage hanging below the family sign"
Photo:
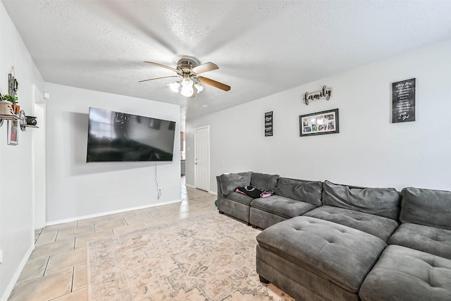
[[[299,116],[299,136],[340,133],[338,109]]]

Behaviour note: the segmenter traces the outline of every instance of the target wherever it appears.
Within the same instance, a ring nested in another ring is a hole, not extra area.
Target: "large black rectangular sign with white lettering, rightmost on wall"
[[[392,123],[415,121],[415,78],[393,82]]]

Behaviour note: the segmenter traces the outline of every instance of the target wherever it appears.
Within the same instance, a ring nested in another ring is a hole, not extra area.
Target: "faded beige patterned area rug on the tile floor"
[[[259,230],[218,213],[87,244],[90,301],[293,300],[255,271]]]

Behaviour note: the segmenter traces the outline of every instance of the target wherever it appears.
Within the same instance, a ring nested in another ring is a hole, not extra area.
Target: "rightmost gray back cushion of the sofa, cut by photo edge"
[[[451,230],[451,192],[404,188],[400,220]]]

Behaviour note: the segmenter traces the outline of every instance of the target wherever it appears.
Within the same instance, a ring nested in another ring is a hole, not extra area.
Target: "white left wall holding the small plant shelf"
[[[0,92],[8,93],[8,73],[14,66],[21,109],[34,112],[33,85],[42,80],[23,41],[0,3]],[[39,121],[38,121],[39,122]],[[6,145],[7,122],[0,128],[0,300],[6,300],[34,248],[32,137],[37,129],[18,131],[19,145]]]

